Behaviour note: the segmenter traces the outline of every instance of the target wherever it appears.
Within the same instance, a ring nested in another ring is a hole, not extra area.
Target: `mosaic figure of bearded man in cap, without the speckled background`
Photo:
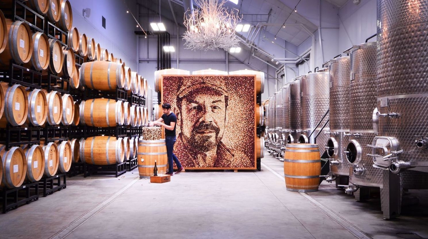
[[[252,167],[241,149],[231,149],[222,142],[228,125],[228,102],[222,79],[214,82],[201,77],[179,84],[181,132],[175,152],[185,160],[186,167]]]

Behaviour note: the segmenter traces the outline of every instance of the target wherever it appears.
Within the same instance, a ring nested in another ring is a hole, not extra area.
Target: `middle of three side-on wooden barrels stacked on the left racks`
[[[93,127],[123,125],[124,111],[122,101],[89,99],[80,104],[80,121]]]

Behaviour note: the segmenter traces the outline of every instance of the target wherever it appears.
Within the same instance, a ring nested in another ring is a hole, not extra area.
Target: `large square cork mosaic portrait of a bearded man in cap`
[[[256,167],[254,76],[163,76],[162,92],[177,115],[183,167]]]

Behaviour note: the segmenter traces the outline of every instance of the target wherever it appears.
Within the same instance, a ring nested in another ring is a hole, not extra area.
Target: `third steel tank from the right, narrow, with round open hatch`
[[[339,55],[341,56],[341,55]],[[330,157],[330,173],[336,179],[336,186],[348,185],[349,167],[343,148],[350,140],[349,133],[349,81],[350,65],[349,56],[338,57],[330,60],[330,138],[325,146]]]

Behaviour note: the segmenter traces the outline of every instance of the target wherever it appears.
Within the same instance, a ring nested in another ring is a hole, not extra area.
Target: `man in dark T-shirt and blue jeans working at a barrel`
[[[158,125],[163,126],[165,128],[165,143],[166,143],[166,154],[168,155],[168,172],[166,174],[168,175],[174,175],[173,173],[173,163],[175,162],[177,165],[177,172],[175,174],[180,173],[183,170],[183,167],[180,164],[180,161],[178,161],[177,156],[175,156],[173,150],[174,150],[174,143],[177,140],[175,137],[175,124],[177,123],[177,117],[175,116],[174,112],[171,111],[171,105],[168,103],[165,103],[162,105],[162,111],[163,115],[158,120],[155,120],[153,122],[150,122],[150,126]]]

